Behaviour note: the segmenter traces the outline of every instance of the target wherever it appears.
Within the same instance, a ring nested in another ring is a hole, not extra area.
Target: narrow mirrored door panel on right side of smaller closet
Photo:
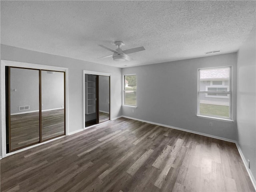
[[[110,119],[109,79],[109,76],[99,76],[99,122],[104,122]]]

